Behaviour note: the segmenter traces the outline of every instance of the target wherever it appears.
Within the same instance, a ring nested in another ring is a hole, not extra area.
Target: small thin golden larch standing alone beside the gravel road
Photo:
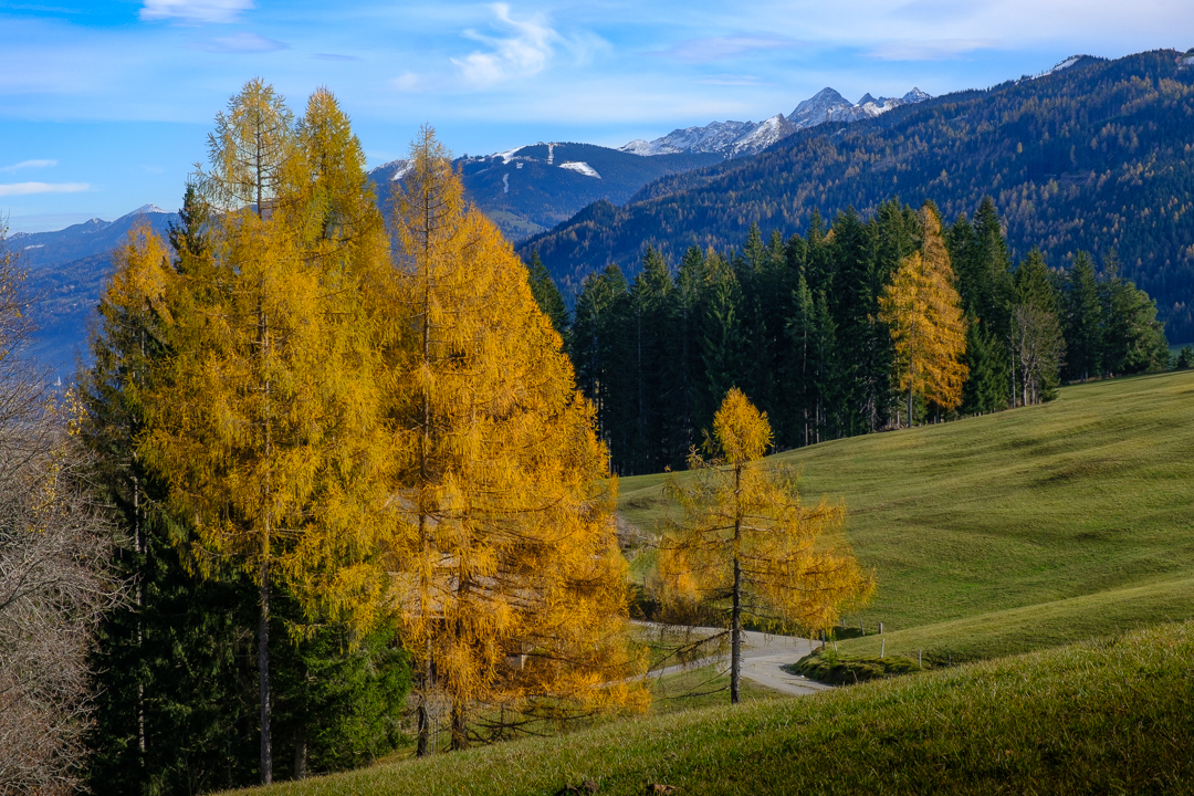
[[[845,507],[824,498],[806,506],[795,475],[763,461],[771,426],[741,390],[727,394],[690,473],[667,480],[681,510],[660,524],[656,588],[665,605],[724,611],[731,643],[730,701],[739,699],[743,621],[820,630],[847,605],[861,605],[874,578],[832,537]]]

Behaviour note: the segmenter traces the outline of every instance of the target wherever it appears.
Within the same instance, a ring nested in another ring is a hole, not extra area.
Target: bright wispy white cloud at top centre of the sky
[[[484,87],[504,82],[512,78],[530,78],[547,66],[553,54],[553,44],[560,35],[549,27],[542,17],[517,20],[510,16],[510,6],[497,2],[492,6],[498,23],[512,32],[505,38],[485,36],[476,31],[464,31],[464,36],[488,45],[488,51],[472,53],[463,58],[453,58],[464,80]]]

